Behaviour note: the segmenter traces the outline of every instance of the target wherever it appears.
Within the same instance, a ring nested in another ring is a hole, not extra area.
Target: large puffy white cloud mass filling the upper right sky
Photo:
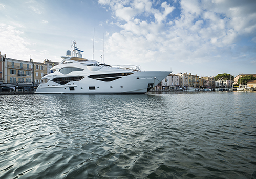
[[[179,60],[191,64],[215,60],[221,53],[228,53],[231,58],[236,55],[233,44],[241,36],[256,32],[256,13],[252,9],[255,3],[251,2],[98,1],[108,6],[114,17],[112,24],[122,29],[109,36],[106,50],[113,57],[115,54],[134,61]],[[173,13],[175,3],[180,6],[179,15]]]

